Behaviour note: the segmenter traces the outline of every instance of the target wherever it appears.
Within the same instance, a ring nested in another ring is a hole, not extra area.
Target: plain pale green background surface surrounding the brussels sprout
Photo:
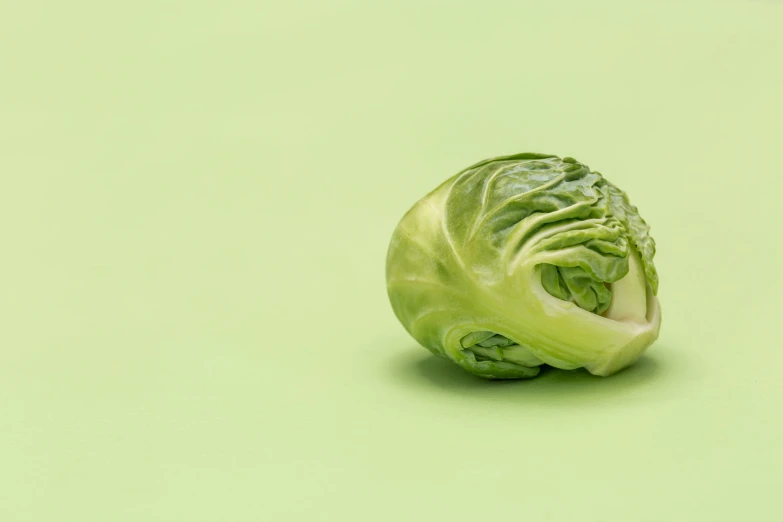
[[[6,2],[3,522],[780,520],[783,2]],[[571,155],[661,337],[487,383],[384,284],[464,166]]]

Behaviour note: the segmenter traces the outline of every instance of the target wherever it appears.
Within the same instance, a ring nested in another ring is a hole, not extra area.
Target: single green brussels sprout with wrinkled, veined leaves
[[[386,282],[405,329],[490,379],[542,364],[612,374],[658,337],[650,227],[573,158],[522,153],[459,172],[392,236]]]

